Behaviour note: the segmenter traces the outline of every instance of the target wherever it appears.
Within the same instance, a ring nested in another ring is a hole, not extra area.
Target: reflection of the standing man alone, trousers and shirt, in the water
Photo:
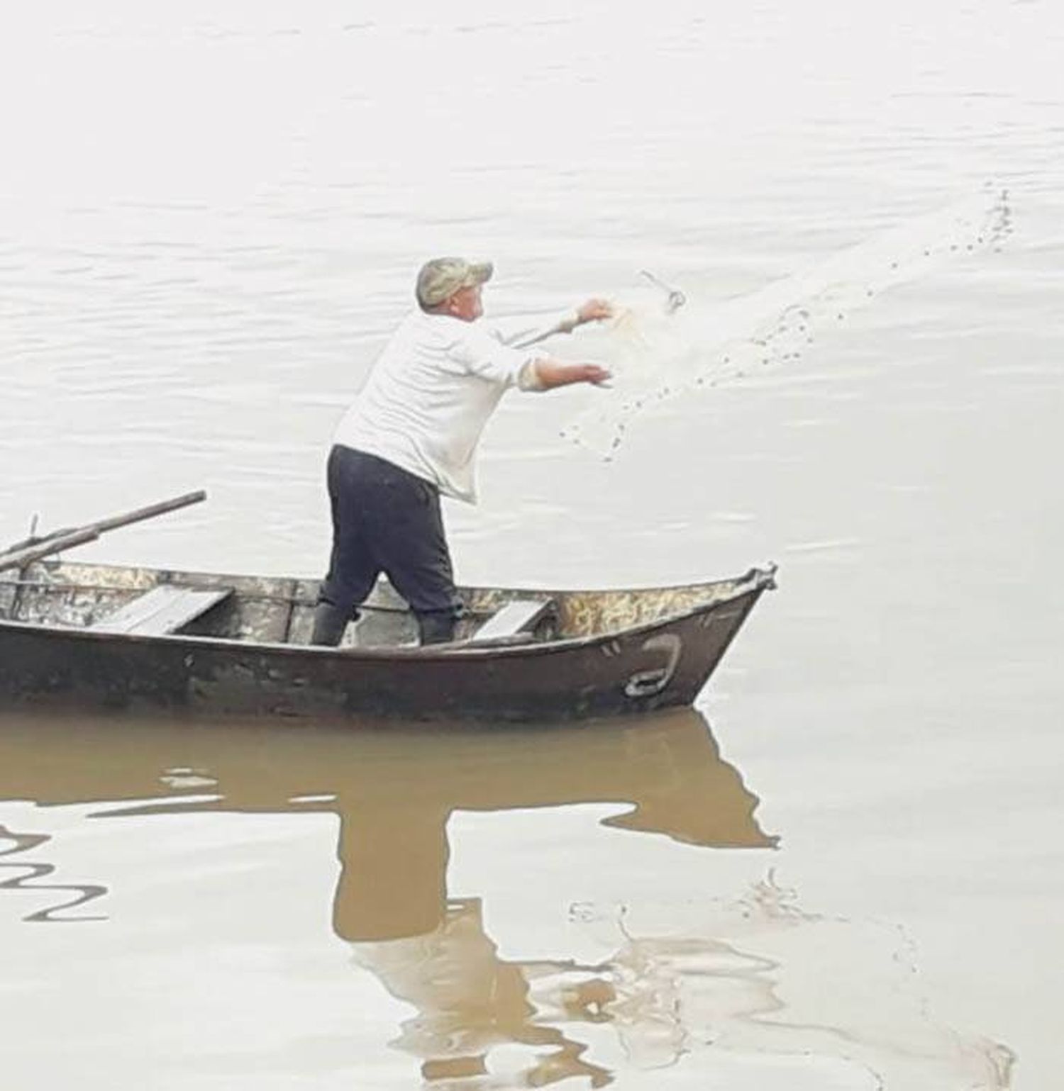
[[[550,1050],[523,1072],[528,1087],[575,1075],[593,1087],[609,1082],[606,1069],[581,1060],[585,1046],[533,1021],[536,966],[499,958],[479,901],[447,901],[446,818],[403,806],[384,812],[375,803],[349,807],[342,819],[333,926],[359,966],[418,1009],[392,1044],[421,1058],[426,1079],[483,1075],[493,1047],[523,1044]]]

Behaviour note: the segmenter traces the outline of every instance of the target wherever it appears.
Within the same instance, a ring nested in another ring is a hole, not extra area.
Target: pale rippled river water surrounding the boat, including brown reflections
[[[463,582],[780,573],[639,726],[2,714],[7,1086],[1054,1086],[1062,46],[1039,0],[12,15],[0,540],[202,487],[79,559],[319,574],[331,430],[456,252],[624,311],[555,346],[613,391],[492,421]]]

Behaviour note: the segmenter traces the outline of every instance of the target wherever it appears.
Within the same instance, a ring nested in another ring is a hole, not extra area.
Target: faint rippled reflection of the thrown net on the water
[[[937,1021],[896,924],[811,913],[775,875],[734,901],[588,906],[603,1011],[630,1062],[697,1054],[741,1087],[1007,1091],[1005,1045]]]

